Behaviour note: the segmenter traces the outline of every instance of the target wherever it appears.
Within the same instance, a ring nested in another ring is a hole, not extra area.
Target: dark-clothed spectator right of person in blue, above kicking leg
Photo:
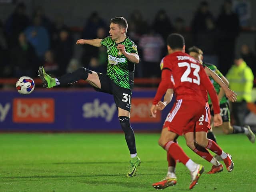
[[[59,65],[59,74],[64,74],[74,53],[73,38],[68,29],[60,30],[58,42],[54,47],[56,62]]]

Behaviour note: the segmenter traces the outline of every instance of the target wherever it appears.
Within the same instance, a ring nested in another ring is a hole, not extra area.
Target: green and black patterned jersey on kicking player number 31
[[[108,52],[108,68],[107,76],[113,80],[115,84],[122,88],[132,89],[134,83],[135,64],[130,62],[124,55],[118,51],[117,44],[110,36],[104,38],[100,44],[107,47]],[[136,53],[137,46],[130,38],[126,38],[123,42],[125,50],[128,53]]]

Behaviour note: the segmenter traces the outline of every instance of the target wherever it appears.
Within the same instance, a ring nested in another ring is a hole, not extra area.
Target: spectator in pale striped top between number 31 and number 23
[[[160,61],[164,49],[164,39],[151,28],[148,34],[142,35],[139,41],[139,48],[142,50],[142,70],[146,73],[143,77],[160,77]]]

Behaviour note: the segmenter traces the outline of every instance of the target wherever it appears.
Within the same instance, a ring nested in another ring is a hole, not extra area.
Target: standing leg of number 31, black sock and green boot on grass
[[[118,118],[131,156],[127,177],[132,177],[136,175],[137,168],[140,166],[140,158],[137,156],[134,131],[130,124],[130,112],[118,107]]]

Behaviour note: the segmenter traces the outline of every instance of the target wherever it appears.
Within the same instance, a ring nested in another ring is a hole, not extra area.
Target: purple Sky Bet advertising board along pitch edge
[[[22,95],[0,90],[1,132],[122,131],[112,95],[93,89],[36,89]],[[131,123],[135,131],[159,132],[171,106],[149,117],[155,89],[134,89]]]

